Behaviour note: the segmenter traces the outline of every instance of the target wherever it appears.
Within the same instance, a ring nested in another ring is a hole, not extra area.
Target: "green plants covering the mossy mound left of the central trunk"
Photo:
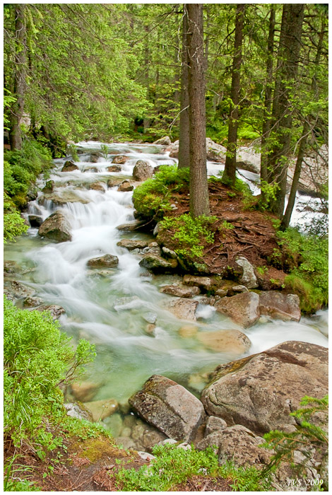
[[[133,202],[136,210],[147,218],[160,220],[170,211],[172,191],[179,191],[189,184],[189,169],[177,165],[161,165],[154,177],[136,187]]]

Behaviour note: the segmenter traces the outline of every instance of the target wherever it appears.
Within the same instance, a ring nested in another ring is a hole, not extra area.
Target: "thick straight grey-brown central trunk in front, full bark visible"
[[[188,16],[190,214],[210,215],[206,170],[205,60],[203,4],[185,4]]]

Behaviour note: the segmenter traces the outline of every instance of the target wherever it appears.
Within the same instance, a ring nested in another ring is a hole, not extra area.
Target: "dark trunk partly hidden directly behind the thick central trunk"
[[[186,33],[188,30],[187,12],[184,8],[182,21],[182,57],[181,57],[181,93],[179,124],[179,165],[178,168],[189,167],[189,94],[188,94],[188,50]]]

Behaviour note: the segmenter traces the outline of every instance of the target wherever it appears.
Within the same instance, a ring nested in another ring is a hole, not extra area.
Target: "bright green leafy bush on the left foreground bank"
[[[47,311],[19,310],[4,298],[4,433],[54,448],[43,421],[59,413],[58,388],[83,372],[93,347],[83,339],[76,350]],[[55,442],[57,444],[57,442]]]

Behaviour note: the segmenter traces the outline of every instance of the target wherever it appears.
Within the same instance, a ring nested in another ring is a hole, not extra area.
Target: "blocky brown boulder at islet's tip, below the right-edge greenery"
[[[296,294],[277,291],[262,292],[259,296],[261,315],[270,315],[275,320],[300,321],[300,298]]]

